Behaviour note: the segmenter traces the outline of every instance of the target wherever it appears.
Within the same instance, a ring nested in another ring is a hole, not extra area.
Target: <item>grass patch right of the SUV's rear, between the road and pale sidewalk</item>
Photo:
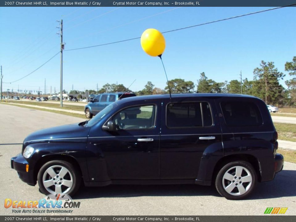
[[[278,139],[296,142],[296,124],[273,123],[278,131]]]

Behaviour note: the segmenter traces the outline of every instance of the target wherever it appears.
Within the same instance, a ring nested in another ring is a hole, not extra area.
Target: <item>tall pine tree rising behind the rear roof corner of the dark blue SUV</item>
[[[279,80],[285,76],[282,72],[278,72],[273,62],[261,61],[260,67],[255,68],[254,80],[258,89],[258,97],[265,101],[266,104],[272,104],[282,96],[283,87],[279,84]]]

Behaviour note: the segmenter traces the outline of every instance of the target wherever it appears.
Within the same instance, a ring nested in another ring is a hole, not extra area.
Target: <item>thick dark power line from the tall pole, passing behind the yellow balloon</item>
[[[201,24],[197,24],[197,25],[193,25],[193,26],[187,26],[187,27],[183,27],[183,28],[179,28],[179,29],[173,29],[173,30],[170,30],[170,31],[162,32],[162,33],[164,34],[164,33],[169,33],[169,32],[174,32],[174,31],[180,31],[180,30],[183,30],[183,29],[193,28],[193,27],[202,26],[202,25],[208,25],[208,24],[211,24],[211,23],[221,22],[221,21],[225,21],[225,20],[229,20],[229,19],[236,19],[236,18],[240,18],[240,17],[243,17],[243,16],[247,16],[247,15],[258,14],[258,13],[261,13],[261,12],[271,11],[271,10],[290,7],[290,6],[295,6],[295,5],[296,5],[296,3],[291,4],[291,5],[287,5],[287,6],[280,6],[280,7],[265,9],[265,10],[261,10],[261,11],[251,12],[251,13],[247,13],[247,14],[236,15],[236,16],[233,16],[233,17],[225,18],[225,19],[219,19],[219,20],[215,20],[215,21],[211,21],[211,22],[207,22],[207,23],[201,23]],[[85,22],[87,22],[87,21],[85,21]],[[105,44],[99,44],[99,45],[93,45],[93,46],[81,47],[81,48],[75,48],[75,49],[68,49],[68,50],[64,50],[64,51],[73,51],[73,50],[80,50],[80,49],[110,45],[110,44],[121,43],[121,42],[131,41],[131,40],[140,39],[140,38],[141,37],[125,39],[125,40],[111,42],[111,43],[105,43]]]

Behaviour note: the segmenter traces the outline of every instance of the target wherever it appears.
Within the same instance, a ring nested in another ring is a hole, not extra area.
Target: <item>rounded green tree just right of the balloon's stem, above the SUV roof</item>
[[[171,93],[192,93],[194,91],[194,83],[192,81],[185,81],[183,79],[169,80]],[[169,92],[168,85],[164,88]]]

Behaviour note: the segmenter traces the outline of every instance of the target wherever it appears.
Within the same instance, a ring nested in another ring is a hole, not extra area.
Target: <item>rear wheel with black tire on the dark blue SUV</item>
[[[242,169],[241,174],[238,172],[240,177],[236,177],[236,171],[239,171],[238,169]],[[227,179],[223,179],[224,175]],[[230,177],[229,179],[228,176]],[[250,182],[243,182],[250,179],[252,179]],[[252,164],[246,161],[234,161],[226,164],[220,169],[216,177],[217,191],[221,196],[231,200],[244,199],[250,195],[254,190],[256,183],[256,171]],[[226,191],[226,188],[228,188],[228,191]]]

